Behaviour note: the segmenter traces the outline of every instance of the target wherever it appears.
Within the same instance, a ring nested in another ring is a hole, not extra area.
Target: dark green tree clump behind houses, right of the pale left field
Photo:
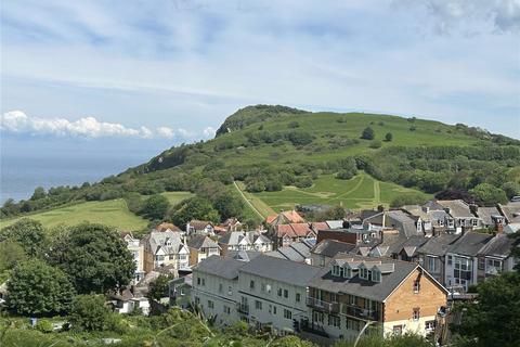
[[[208,200],[191,197],[173,206],[168,211],[167,219],[176,226],[184,228],[192,219],[218,222],[220,216]]]

